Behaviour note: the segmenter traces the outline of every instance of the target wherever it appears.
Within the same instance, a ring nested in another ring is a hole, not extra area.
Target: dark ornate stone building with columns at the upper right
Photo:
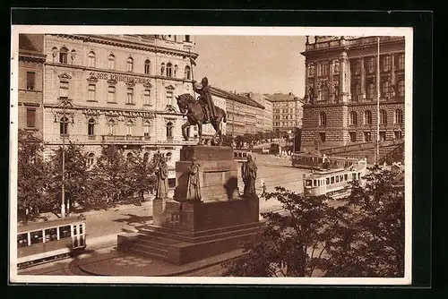
[[[404,45],[404,37],[381,37],[378,66],[377,37],[306,38],[302,149],[376,141],[378,121],[381,141],[404,137]]]

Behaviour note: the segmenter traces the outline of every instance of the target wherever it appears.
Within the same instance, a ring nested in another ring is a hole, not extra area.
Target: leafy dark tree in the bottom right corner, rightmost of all
[[[356,182],[348,212],[324,265],[328,277],[396,278],[404,276],[404,186],[396,173],[378,167]]]

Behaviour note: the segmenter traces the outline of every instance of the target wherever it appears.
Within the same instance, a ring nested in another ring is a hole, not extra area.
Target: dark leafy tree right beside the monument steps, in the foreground
[[[262,213],[263,232],[245,243],[245,254],[225,264],[225,276],[311,277],[324,260],[330,232],[341,217],[326,196],[308,196],[276,187],[266,199],[277,199],[284,213]]]

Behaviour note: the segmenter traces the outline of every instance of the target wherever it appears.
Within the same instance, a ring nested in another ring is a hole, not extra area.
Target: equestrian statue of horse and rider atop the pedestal
[[[202,124],[211,124],[215,129],[213,141],[222,145],[222,132],[220,130],[221,122],[227,122],[226,112],[220,107],[216,107],[211,99],[211,87],[207,77],[201,81],[202,87],[198,87],[196,81],[193,81],[193,89],[199,93],[199,98],[196,100],[191,94],[185,93],[178,97],[177,106],[181,113],[186,113],[187,121],[182,125],[182,136],[185,141],[188,141],[186,135],[186,128],[191,125],[197,125],[199,133],[198,145],[202,145]],[[216,141],[216,138],[219,140]]]

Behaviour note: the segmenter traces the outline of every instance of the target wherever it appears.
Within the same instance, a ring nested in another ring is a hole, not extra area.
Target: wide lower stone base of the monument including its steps
[[[241,247],[263,228],[259,200],[177,202],[156,200],[153,225],[118,235],[118,250],[182,265]]]

